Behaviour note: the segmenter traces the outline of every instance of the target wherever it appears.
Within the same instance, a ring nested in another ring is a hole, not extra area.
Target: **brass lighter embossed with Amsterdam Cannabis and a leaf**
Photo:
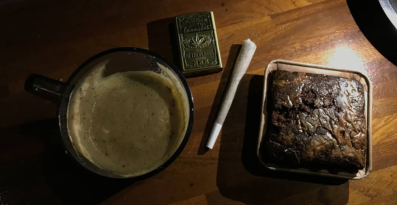
[[[202,11],[175,17],[181,71],[185,77],[222,71],[214,13]]]

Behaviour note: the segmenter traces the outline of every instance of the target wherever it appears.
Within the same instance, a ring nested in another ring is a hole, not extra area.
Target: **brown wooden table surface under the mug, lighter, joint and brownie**
[[[343,0],[0,1],[0,204],[396,204],[397,68],[366,40]],[[168,23],[214,11],[224,71],[189,78],[190,140],[177,160],[141,180],[81,170],[62,151],[56,104],[23,90],[38,73],[64,81],[109,48],[141,47],[173,59]],[[205,151],[239,44],[258,46],[222,133]],[[262,76],[273,59],[361,69],[374,84],[371,174],[358,181],[257,169]]]

